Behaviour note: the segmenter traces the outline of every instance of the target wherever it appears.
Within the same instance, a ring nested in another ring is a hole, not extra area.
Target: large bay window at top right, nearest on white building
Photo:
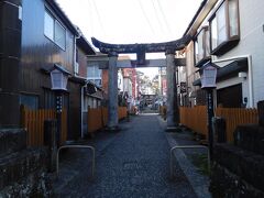
[[[209,22],[211,54],[221,55],[238,44],[240,38],[238,0],[226,0]]]

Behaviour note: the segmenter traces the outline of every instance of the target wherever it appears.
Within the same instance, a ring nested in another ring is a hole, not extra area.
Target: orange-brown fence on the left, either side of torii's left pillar
[[[119,120],[127,117],[127,107],[118,108]],[[92,133],[102,129],[108,123],[108,109],[107,108],[96,108],[88,110],[88,133]]]

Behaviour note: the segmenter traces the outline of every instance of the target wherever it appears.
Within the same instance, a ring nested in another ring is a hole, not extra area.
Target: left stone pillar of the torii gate
[[[110,52],[108,68],[108,129],[118,130],[118,53]]]

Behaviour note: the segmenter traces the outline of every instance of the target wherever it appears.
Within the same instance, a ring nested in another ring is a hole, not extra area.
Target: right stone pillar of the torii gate
[[[175,76],[175,51],[167,50],[165,55],[167,77],[167,131],[174,131],[179,122]]]

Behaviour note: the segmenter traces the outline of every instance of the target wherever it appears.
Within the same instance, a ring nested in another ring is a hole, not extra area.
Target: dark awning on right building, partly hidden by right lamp
[[[220,67],[217,73],[217,81],[234,77],[240,72],[248,72],[248,58],[240,58]],[[200,78],[193,82],[194,86],[201,86]]]

